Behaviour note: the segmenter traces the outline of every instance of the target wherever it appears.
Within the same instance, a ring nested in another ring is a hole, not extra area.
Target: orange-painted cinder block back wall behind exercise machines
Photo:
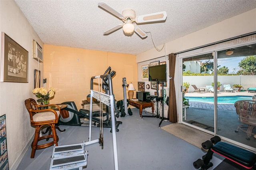
[[[115,99],[122,100],[123,77],[127,83],[132,82],[134,87],[138,87],[136,55],[45,44],[43,77],[47,79],[46,88],[54,87],[56,90],[50,103],[74,101],[81,109],[82,100],[90,94],[91,77],[104,74],[109,66],[116,71],[112,77]],[[98,91],[98,80],[94,82],[94,90]]]

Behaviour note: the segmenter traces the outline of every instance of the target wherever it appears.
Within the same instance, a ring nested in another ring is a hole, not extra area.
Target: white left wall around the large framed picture
[[[8,162],[10,169],[13,169],[22,156],[24,148],[34,136],[35,129],[30,125],[24,100],[35,98],[32,90],[34,89],[34,69],[38,69],[38,63],[32,59],[33,39],[41,47],[43,43],[13,0],[0,1],[0,31],[19,43],[29,55],[28,83],[0,82],[0,115],[6,114]],[[42,82],[42,64],[39,65],[39,70]]]

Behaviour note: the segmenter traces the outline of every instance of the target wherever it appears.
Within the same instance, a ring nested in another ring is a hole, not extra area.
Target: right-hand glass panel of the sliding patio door
[[[242,45],[216,52],[218,84],[217,103],[217,135],[255,148],[256,129],[248,128],[252,122],[242,123],[234,103],[241,100],[252,100],[254,91],[248,93],[248,88],[256,87],[256,44]],[[241,106],[240,106],[241,107]],[[238,108],[239,110],[239,108]],[[254,114],[249,113],[248,115]],[[252,123],[253,124],[253,123]],[[255,124],[256,125],[256,124]],[[248,133],[246,133],[248,130]]]

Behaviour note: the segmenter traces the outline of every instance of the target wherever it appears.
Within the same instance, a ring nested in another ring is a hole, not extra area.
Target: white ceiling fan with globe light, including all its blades
[[[120,28],[123,28],[125,33],[132,34],[132,32],[136,32],[141,38],[145,38],[148,36],[146,32],[144,32],[137,24],[139,23],[148,23],[148,22],[157,22],[166,20],[167,14],[165,11],[155,12],[152,14],[146,14],[141,16],[136,16],[135,10],[126,8],[122,11],[122,14],[114,10],[112,7],[108,6],[105,2],[99,2],[98,6],[107,10],[114,16],[117,16],[124,23],[111,28],[110,30],[104,32],[103,34],[110,34]],[[137,23],[137,24],[136,24]]]

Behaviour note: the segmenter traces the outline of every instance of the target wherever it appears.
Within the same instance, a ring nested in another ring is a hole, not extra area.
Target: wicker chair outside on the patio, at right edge
[[[241,122],[235,132],[238,133],[239,129],[246,132],[246,139],[250,140],[250,136],[253,134],[252,130],[256,127],[256,101],[239,100],[234,105],[236,107],[236,113],[239,115],[238,121]]]

